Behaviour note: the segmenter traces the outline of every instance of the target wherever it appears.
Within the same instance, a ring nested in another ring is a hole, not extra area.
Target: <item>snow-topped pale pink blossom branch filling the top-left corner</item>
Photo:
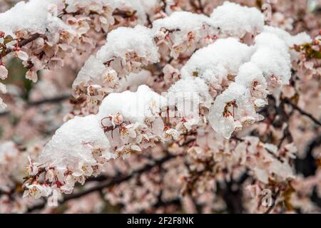
[[[16,56],[29,70],[26,78],[36,82],[39,70],[55,70],[68,58],[90,54],[96,46],[91,33],[147,24],[147,13],[155,4],[146,6],[143,0],[21,1],[0,15],[0,78],[8,76],[6,59]],[[1,93],[6,93],[4,84],[0,86]],[[0,105],[6,107],[2,100]]]

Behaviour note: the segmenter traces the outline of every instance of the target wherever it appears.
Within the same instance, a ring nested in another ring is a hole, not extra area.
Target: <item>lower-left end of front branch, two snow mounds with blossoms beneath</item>
[[[106,162],[119,156],[176,140],[178,131],[165,126],[162,112],[167,100],[148,86],[136,93],[111,93],[97,115],[75,117],[61,126],[41,151],[29,161],[24,196],[51,197],[71,193],[76,182],[99,175]]]

